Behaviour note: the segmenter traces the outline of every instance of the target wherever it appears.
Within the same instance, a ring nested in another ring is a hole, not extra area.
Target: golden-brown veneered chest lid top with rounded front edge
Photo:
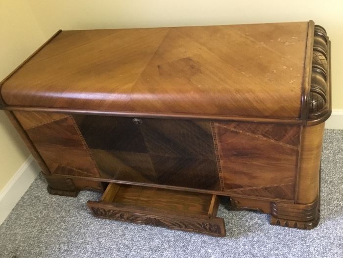
[[[60,31],[0,93],[8,107],[298,118],[309,24]]]

